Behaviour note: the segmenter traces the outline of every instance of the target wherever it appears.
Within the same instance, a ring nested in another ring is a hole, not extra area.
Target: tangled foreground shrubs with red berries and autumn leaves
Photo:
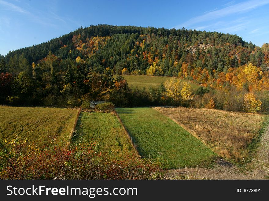
[[[5,140],[0,149],[0,179],[162,179],[160,164],[149,159],[125,156],[113,160],[98,151],[98,143],[85,142],[64,147],[52,144],[28,146],[26,140]],[[3,145],[4,146],[4,145]]]

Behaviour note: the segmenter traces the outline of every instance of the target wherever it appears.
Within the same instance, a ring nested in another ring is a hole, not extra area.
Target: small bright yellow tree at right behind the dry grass
[[[244,109],[246,112],[257,113],[261,109],[262,102],[256,99],[253,93],[244,95]]]

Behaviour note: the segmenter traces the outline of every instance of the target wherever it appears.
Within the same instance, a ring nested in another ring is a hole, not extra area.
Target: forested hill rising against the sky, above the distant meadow
[[[5,57],[6,69],[15,74],[25,71],[33,62],[40,63],[50,51],[62,60],[74,61],[79,56],[94,71],[102,72],[109,67],[114,73],[127,68],[130,73],[146,74],[153,61],[157,71],[152,74],[164,76],[178,75],[183,62],[189,65],[187,76],[197,67],[206,68],[213,76],[214,70],[217,73],[227,71],[249,61],[263,70],[268,65],[266,52],[237,35],[184,28],[97,25],[79,28],[46,43],[10,51]],[[161,72],[158,66],[161,66]]]

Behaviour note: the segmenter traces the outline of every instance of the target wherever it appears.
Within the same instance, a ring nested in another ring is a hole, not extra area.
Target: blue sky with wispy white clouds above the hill
[[[0,0],[0,54],[91,24],[217,31],[269,43],[269,0]]]

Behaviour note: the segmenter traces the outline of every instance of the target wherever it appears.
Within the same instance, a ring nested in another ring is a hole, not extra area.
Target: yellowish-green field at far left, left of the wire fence
[[[67,142],[77,113],[75,109],[0,106],[0,143],[16,135],[41,145],[50,143],[52,135]]]

